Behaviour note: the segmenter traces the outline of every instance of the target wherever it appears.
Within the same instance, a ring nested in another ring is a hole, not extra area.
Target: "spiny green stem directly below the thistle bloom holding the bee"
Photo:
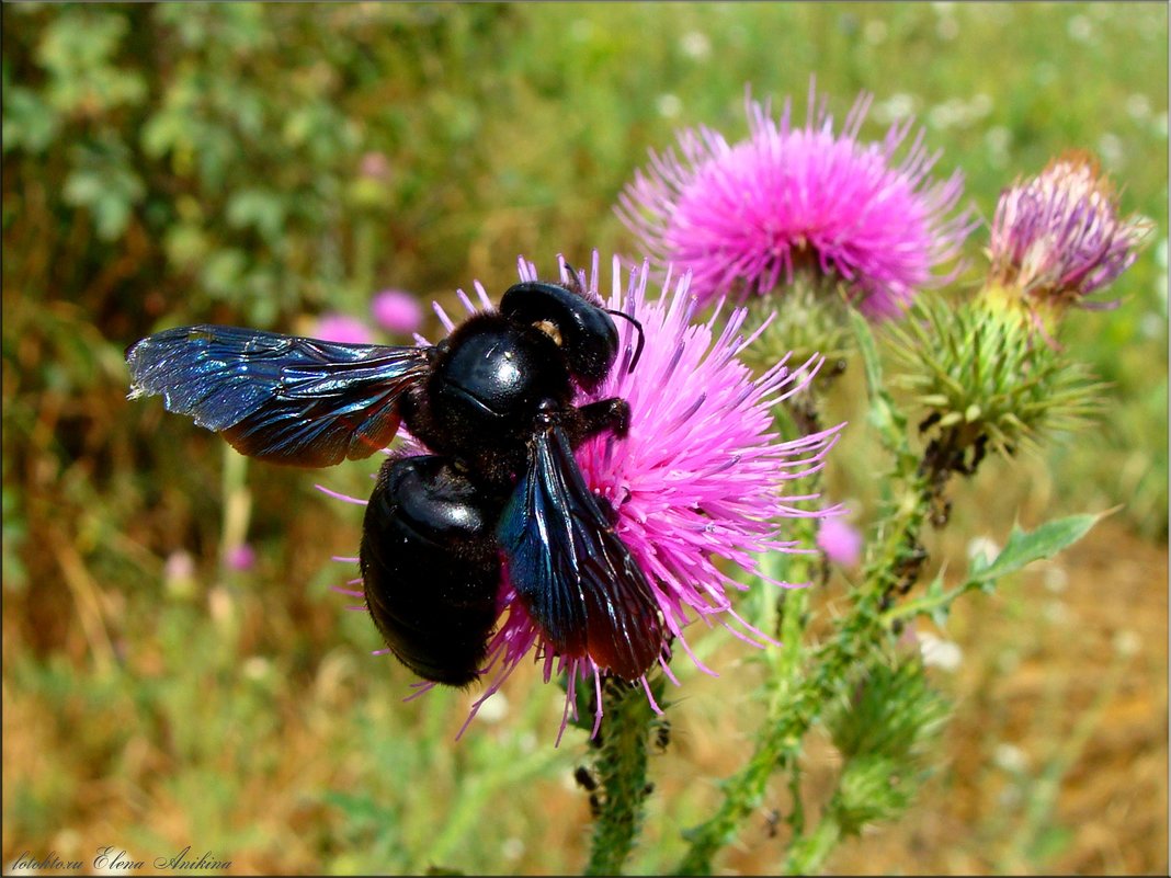
[[[642,829],[646,783],[646,743],[655,720],[646,694],[617,680],[602,690],[603,719],[595,771],[601,810],[586,874],[622,874]]]

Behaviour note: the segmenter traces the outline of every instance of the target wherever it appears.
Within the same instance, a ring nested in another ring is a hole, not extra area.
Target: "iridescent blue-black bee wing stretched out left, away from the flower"
[[[390,443],[430,351],[200,325],[143,338],[126,363],[131,399],[160,393],[252,458],[333,466]]]

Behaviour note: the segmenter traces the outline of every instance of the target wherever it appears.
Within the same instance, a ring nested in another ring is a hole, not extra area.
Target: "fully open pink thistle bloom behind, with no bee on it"
[[[749,137],[734,145],[699,128],[678,135],[682,157],[651,153],[619,196],[618,215],[657,260],[692,273],[703,303],[767,295],[810,269],[841,281],[871,317],[897,314],[917,288],[954,276],[953,260],[974,222],[949,218],[963,176],[933,181],[923,131],[898,162],[911,119],[881,143],[858,139],[870,96],[861,95],[841,133],[810,85],[803,128],[789,101],[779,121],[747,101]]]

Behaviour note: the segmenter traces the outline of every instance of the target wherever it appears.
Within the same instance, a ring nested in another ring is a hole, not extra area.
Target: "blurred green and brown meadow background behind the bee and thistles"
[[[6,4],[2,25],[5,864],[191,845],[235,873],[580,869],[584,745],[554,749],[555,687],[518,673],[453,743],[474,693],[402,704],[411,675],[330,590],[361,508],[314,486],[363,496],[375,464],[247,464],[128,403],[123,350],[338,316],[409,343],[378,293],[495,296],[521,254],[549,273],[628,253],[612,205],[649,149],[682,125],[742,136],[747,85],[803,119],[815,74],[838,119],[874,92],[864,137],[915,115],[985,220],[1086,149],[1156,225],[1122,307],[1064,339],[1110,384],[1102,419],[988,461],[930,548],[960,568],[1015,520],[1117,510],[938,632],[959,650],[936,671],[957,701],[940,768],[830,866],[1166,872],[1166,5]],[[861,421],[840,451],[833,499],[864,523]],[[694,639],[723,677],[680,670],[636,872],[678,858],[751,746],[751,650]],[[834,763],[814,743],[816,787]],[[727,870],[776,869],[783,802]]]

